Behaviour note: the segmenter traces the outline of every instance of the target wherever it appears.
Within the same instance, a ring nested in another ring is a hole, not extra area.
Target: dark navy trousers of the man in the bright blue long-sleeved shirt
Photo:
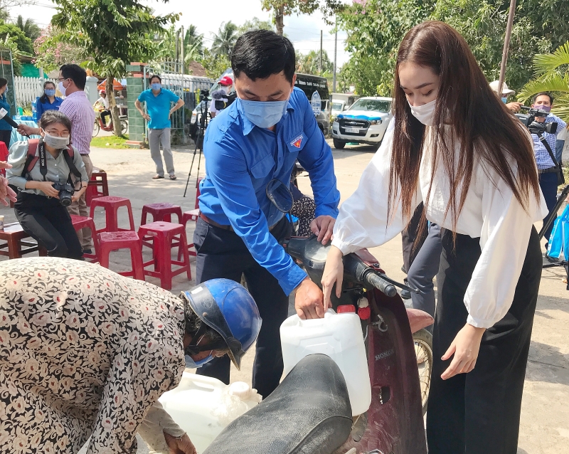
[[[277,241],[290,235],[291,226],[286,218],[277,223],[272,236]],[[193,233],[193,244],[198,253],[196,260],[196,283],[214,278],[240,282],[245,275],[250,294],[255,299],[262,318],[257,337],[252,386],[263,398],[279,385],[282,376],[282,351],[280,325],[288,315],[289,298],[278,280],[259,265],[243,240],[234,232],[212,226],[198,219]],[[229,384],[230,359],[216,358],[198,369],[198,374],[212,376]]]

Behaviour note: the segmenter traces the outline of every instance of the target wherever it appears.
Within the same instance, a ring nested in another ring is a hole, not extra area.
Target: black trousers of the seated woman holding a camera
[[[59,199],[20,192],[14,211],[23,231],[44,246],[50,257],[83,257],[71,216]]]

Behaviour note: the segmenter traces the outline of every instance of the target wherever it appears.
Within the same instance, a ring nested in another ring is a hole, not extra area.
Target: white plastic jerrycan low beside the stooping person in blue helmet
[[[218,379],[184,372],[179,386],[164,393],[159,401],[188,433],[199,454],[225,426],[261,399],[260,394],[243,381],[226,385]]]

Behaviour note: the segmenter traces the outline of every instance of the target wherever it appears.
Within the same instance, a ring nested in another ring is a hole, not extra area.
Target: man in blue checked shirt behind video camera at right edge
[[[550,112],[552,106],[553,96],[551,96],[549,93],[538,93],[537,95],[533,96],[533,99],[531,100],[531,107],[533,109]],[[536,122],[557,123],[557,131],[555,133],[550,134],[548,132],[543,132],[543,137],[545,137],[549,147],[551,150],[553,150],[553,153],[555,153],[555,142],[557,140],[557,134],[561,132],[563,128],[567,126],[567,124],[559,117],[551,115],[551,113],[548,114],[547,117],[536,117]],[[551,212],[551,209],[555,206],[555,202],[557,201],[557,163],[553,162],[553,159],[551,159],[546,147],[541,143],[537,134],[531,134],[531,138],[533,139],[533,153],[536,156],[536,163],[538,165],[539,186],[541,187],[543,198],[546,199],[548,211]],[[552,229],[553,223],[551,223],[551,226],[549,226],[545,233],[545,238],[548,241]],[[546,243],[546,250],[547,244],[548,243]]]

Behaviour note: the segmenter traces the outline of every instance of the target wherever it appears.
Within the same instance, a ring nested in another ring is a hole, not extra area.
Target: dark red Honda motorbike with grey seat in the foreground
[[[283,246],[319,284],[330,246],[315,236],[292,237]],[[423,414],[432,339],[424,328],[433,320],[406,309],[395,286],[405,287],[388,278],[371,253],[360,250],[344,256],[341,297],[332,290],[334,309],[351,305],[361,319],[372,391],[366,413],[352,417],[338,366],[312,354],[270,396],[230,423],[203,454],[426,454]]]

